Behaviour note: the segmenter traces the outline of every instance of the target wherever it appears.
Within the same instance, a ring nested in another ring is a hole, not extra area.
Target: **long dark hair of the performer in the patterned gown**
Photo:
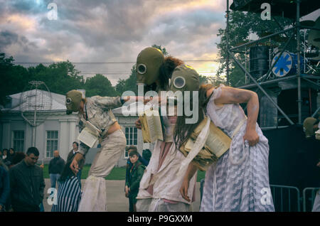
[[[176,127],[174,129],[174,141],[176,141],[176,146],[178,149],[188,140],[193,130],[196,129],[196,127],[198,127],[198,124],[200,124],[200,122],[204,119],[203,112],[205,112],[206,105],[208,104],[208,100],[210,99],[210,97],[206,97],[206,92],[212,87],[214,87],[212,84],[205,84],[200,86],[198,95],[198,122],[196,122],[195,124],[186,124],[186,119],[188,117],[186,117],[184,114],[182,116],[178,116],[176,120]],[[192,102],[193,101],[191,99],[191,107]],[[190,117],[192,117],[192,115]]]

